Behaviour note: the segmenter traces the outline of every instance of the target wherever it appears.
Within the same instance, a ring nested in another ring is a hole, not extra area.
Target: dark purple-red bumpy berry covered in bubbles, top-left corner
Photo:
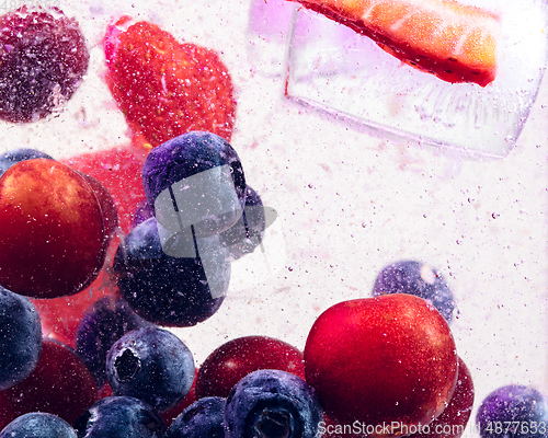
[[[0,118],[34,122],[77,90],[90,55],[73,19],[59,10],[0,18]]]

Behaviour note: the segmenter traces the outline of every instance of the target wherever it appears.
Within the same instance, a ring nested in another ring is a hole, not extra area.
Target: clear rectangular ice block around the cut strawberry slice
[[[498,73],[486,88],[444,82],[345,26],[296,9],[287,93],[383,132],[504,157],[522,131],[546,68],[546,7],[537,0],[473,4],[499,13],[502,22]]]

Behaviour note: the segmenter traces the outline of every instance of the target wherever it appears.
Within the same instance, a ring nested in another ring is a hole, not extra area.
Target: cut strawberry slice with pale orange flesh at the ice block
[[[447,82],[486,87],[496,71],[500,19],[455,0],[302,0]]]

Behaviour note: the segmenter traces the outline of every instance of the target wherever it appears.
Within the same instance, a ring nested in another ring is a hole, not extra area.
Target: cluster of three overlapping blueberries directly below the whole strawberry
[[[119,291],[156,324],[203,322],[225,299],[231,261],[262,242],[261,198],[247,185],[233,148],[209,132],[155,148],[142,183],[147,205],[114,258]]]

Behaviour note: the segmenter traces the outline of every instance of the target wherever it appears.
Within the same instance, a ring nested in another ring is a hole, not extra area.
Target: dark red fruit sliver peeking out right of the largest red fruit
[[[412,434],[411,438],[459,438],[464,433],[473,406],[473,382],[469,368],[458,358],[458,377],[449,405],[434,419],[422,434]]]

